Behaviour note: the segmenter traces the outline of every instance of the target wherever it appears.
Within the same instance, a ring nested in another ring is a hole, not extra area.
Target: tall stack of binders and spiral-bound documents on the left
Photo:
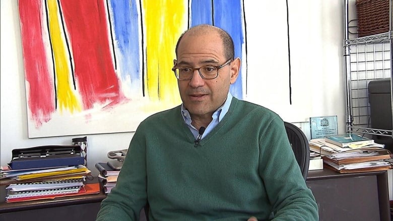
[[[6,202],[98,193],[99,185],[85,184],[91,171],[78,155],[80,146],[39,146],[13,150],[13,159],[0,169],[7,185]],[[42,167],[45,165],[45,167]]]

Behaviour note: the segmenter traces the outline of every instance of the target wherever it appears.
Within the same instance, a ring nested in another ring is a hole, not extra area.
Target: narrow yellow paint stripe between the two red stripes
[[[65,48],[64,35],[59,24],[56,0],[48,0],[50,40],[53,48],[54,68],[57,83],[57,104],[60,112],[68,109],[71,113],[81,111],[81,105],[73,91],[70,62]]]

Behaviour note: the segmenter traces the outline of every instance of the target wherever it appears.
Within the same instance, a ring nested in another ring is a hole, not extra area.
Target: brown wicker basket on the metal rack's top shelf
[[[356,0],[358,37],[389,31],[389,0]]]

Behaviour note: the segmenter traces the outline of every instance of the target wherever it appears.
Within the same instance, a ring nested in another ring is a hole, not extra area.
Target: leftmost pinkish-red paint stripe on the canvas
[[[48,57],[42,36],[42,28],[46,28],[42,21],[42,1],[19,1],[19,15],[25,79],[28,82],[27,103],[38,128],[43,122],[48,122],[51,113],[55,111],[54,84],[48,70]]]

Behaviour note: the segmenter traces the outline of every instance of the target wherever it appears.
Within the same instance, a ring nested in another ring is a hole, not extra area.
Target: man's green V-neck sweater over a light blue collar
[[[97,220],[318,220],[318,210],[274,112],[233,98],[195,148],[180,106],[144,120]]]

